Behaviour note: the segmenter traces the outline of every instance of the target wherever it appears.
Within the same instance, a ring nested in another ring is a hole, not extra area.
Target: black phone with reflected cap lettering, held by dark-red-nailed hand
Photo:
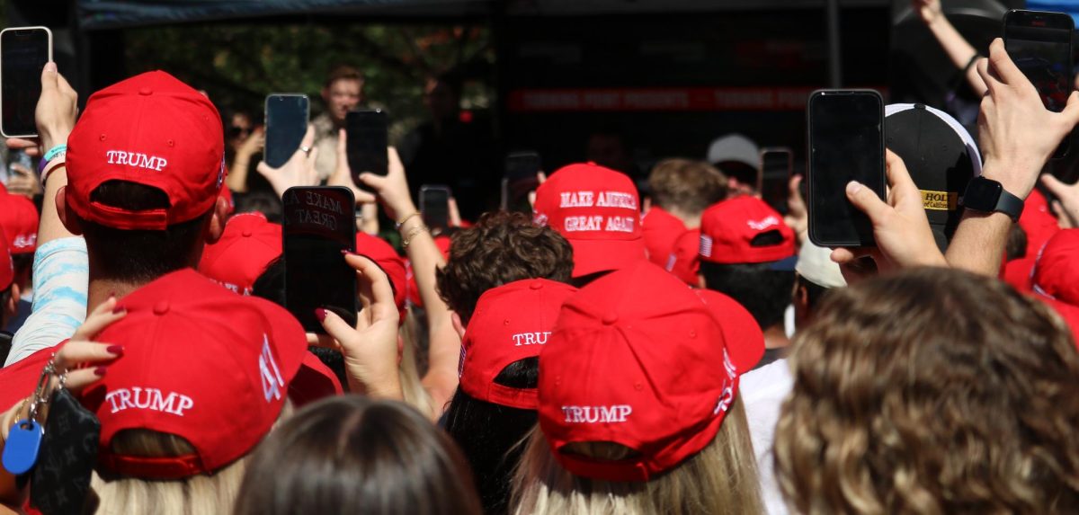
[[[315,309],[356,324],[356,270],[342,250],[356,250],[356,200],[340,186],[297,186],[282,198],[285,308],[303,329],[325,333]]]

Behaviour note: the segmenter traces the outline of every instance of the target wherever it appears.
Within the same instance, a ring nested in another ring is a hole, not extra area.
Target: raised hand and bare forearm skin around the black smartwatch
[[[1060,113],[1046,109],[1000,39],[989,45],[989,58],[979,64],[978,72],[988,88],[978,116],[979,143],[985,156],[982,177],[1025,199],[1046,162],[1079,122],[1079,93],[1071,93]],[[1007,214],[967,209],[948,247],[948,263],[996,277],[1011,225]]]

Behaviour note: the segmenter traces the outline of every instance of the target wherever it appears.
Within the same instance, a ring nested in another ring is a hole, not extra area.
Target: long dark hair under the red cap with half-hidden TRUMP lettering
[[[540,358],[507,365],[494,382],[513,388],[536,388]],[[534,409],[480,401],[457,388],[446,412],[446,431],[472,463],[483,513],[509,513],[510,479],[524,447],[517,445],[536,424]]]

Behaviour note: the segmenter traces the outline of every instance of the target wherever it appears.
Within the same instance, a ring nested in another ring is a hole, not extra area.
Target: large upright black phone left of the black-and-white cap
[[[874,245],[869,217],[847,200],[858,181],[884,197],[884,102],[873,91],[809,97],[809,239],[822,247]]]

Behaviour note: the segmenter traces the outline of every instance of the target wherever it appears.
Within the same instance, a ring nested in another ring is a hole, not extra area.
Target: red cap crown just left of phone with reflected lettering
[[[281,255],[281,231],[262,213],[236,214],[224,224],[221,238],[203,249],[199,272],[233,292],[250,295],[267,265]]]

